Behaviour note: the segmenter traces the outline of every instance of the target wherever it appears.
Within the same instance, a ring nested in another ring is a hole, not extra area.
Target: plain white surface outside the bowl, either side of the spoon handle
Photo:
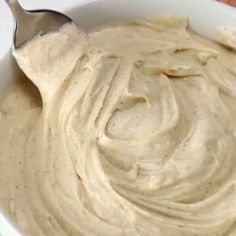
[[[86,0],[19,0],[25,9],[54,9],[63,11],[78,2]],[[0,0],[0,57],[10,48],[14,23],[4,0]]]

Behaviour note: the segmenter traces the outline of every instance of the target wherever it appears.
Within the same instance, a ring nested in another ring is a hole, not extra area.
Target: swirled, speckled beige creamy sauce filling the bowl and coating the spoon
[[[14,52],[37,89],[0,106],[0,204],[25,235],[236,235],[236,55],[186,27],[67,25]]]

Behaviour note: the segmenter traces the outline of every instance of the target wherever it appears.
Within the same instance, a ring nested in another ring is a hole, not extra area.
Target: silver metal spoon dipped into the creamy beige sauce
[[[33,39],[36,35],[44,35],[59,29],[72,20],[60,12],[52,10],[27,11],[18,0],[5,0],[15,18],[15,33],[13,44],[15,49]]]

